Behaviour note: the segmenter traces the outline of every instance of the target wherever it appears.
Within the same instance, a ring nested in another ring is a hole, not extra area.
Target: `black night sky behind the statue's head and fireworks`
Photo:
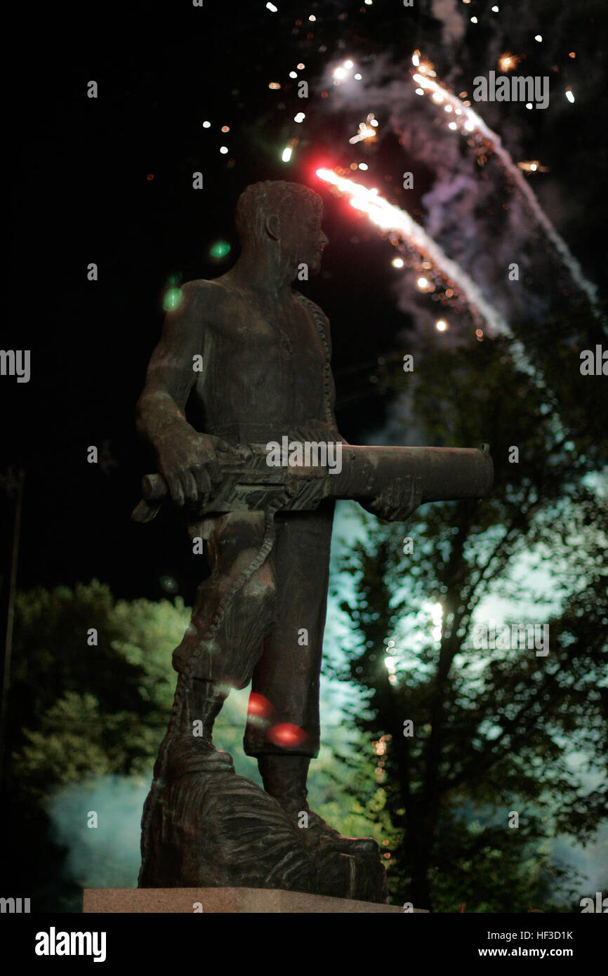
[[[499,0],[496,15],[492,4],[475,0],[420,0],[414,9],[398,0],[276,0],[276,6],[273,14],[264,2],[220,0],[205,0],[202,9],[187,0],[41,5],[23,10],[13,23],[7,50],[19,57],[5,93],[13,247],[0,345],[31,350],[31,379],[18,385],[0,378],[0,470],[11,464],[25,469],[20,588],[98,577],[117,595],[158,597],[164,595],[160,577],[171,575],[191,600],[196,570],[177,515],[167,512],[149,526],[130,521],[140,477],[151,467],[137,442],[134,407],[160,333],[168,277],[213,278],[227,270],[236,253],[234,203],[248,183],[289,179],[322,192],[331,243],[323,274],[303,290],[332,321],[343,434],[360,442],[382,426],[388,402],[370,382],[374,363],[403,348],[408,336],[414,340],[421,322],[416,312],[401,310],[408,303],[403,288],[399,299],[389,243],[312,175],[319,162],[347,167],[367,154],[386,198],[404,206],[401,173],[412,170],[416,190],[408,209],[420,223],[432,218],[423,196],[449,183],[456,166],[450,153],[457,150],[437,153],[437,146],[447,146],[446,134],[427,106],[417,106],[412,116],[424,135],[416,145],[407,138],[407,105],[391,115],[388,86],[401,79],[411,84],[415,48],[456,92],[466,79],[470,90],[474,74],[496,68],[503,50],[524,55],[526,72],[550,74],[554,101],[545,112],[511,105],[500,115],[493,106],[484,118],[514,159],[539,158],[548,166],[547,176],[535,178],[544,181],[535,190],[589,279],[604,286],[607,99],[600,3]],[[474,16],[477,24],[470,22]],[[539,32],[544,41],[535,46]],[[576,59],[569,58],[571,50]],[[369,110],[383,123],[374,147],[354,154],[347,140],[361,120],[358,106],[340,102],[331,85],[323,87],[325,72],[347,57],[361,63],[364,79],[374,80],[377,98]],[[297,98],[297,82],[289,79],[300,61],[306,65],[300,76],[310,85],[307,101]],[[99,83],[97,100],[87,98],[91,79]],[[268,89],[272,80],[281,83],[280,91]],[[567,84],[576,105],[564,99]],[[328,90],[326,99],[322,90]],[[299,110],[307,115],[302,126],[293,121]],[[212,124],[203,129],[206,119]],[[223,125],[229,133],[222,134]],[[294,136],[301,141],[286,165],[281,148]],[[222,144],[229,147],[226,155]],[[470,165],[476,173],[472,150],[458,152],[458,167]],[[198,170],[204,174],[200,191],[191,185]],[[500,213],[504,187],[488,172]],[[442,246],[450,253],[454,243],[473,277],[467,242],[474,239],[486,251],[492,234],[505,242],[505,228],[491,211],[484,187],[479,206],[463,218],[465,243],[445,222],[439,227]],[[541,296],[549,278],[564,279],[563,268],[534,230],[522,229],[520,238],[527,254],[544,257],[526,286],[532,297]],[[232,246],[222,262],[210,257],[218,240]],[[87,281],[90,262],[99,264],[98,282]],[[492,275],[480,275],[492,300]],[[504,313],[506,301],[498,301]],[[468,329],[466,316],[465,322]],[[539,330],[546,339],[540,323]],[[113,462],[105,471],[86,461],[87,447],[104,442]],[[7,551],[10,508],[3,494],[0,506]]]

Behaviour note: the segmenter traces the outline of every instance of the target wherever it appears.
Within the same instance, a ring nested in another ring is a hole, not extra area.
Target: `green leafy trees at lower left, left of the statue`
[[[188,614],[180,600],[115,601],[97,581],[20,592],[16,610],[4,879],[39,911],[73,909],[49,802],[67,784],[149,772],[171,708],[168,651]]]

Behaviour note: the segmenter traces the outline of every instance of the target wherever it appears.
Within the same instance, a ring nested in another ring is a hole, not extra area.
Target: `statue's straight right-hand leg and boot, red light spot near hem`
[[[308,765],[319,751],[319,672],[333,513],[333,503],[326,503],[313,512],[276,516],[278,621],[264,641],[252,683],[252,692],[263,695],[273,711],[265,728],[248,725],[244,747],[258,756],[266,792],[294,821],[307,824],[304,838],[377,857],[374,840],[341,836],[306,801]]]

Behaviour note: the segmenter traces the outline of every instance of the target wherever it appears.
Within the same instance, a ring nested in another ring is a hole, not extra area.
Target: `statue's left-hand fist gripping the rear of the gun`
[[[165,478],[173,501],[207,502],[213,488],[222,480],[218,452],[233,449],[218,437],[198,433],[188,424],[168,427],[157,444],[158,468]]]

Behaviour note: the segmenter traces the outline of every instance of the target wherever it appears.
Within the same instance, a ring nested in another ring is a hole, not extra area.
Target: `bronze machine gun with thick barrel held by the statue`
[[[312,445],[318,447],[319,445]],[[234,455],[220,460],[221,478],[209,497],[189,510],[191,519],[209,518],[229,511],[251,511],[278,506],[281,510],[311,510],[323,499],[354,499],[363,505],[373,502],[389,486],[403,504],[417,481],[419,505],[481,499],[494,478],[489,446],[374,447],[342,444],[340,471],[327,465],[271,467],[266,445],[239,445]],[[149,522],[169,495],[160,474],[142,478],[142,501],[134,509],[136,522]]]

